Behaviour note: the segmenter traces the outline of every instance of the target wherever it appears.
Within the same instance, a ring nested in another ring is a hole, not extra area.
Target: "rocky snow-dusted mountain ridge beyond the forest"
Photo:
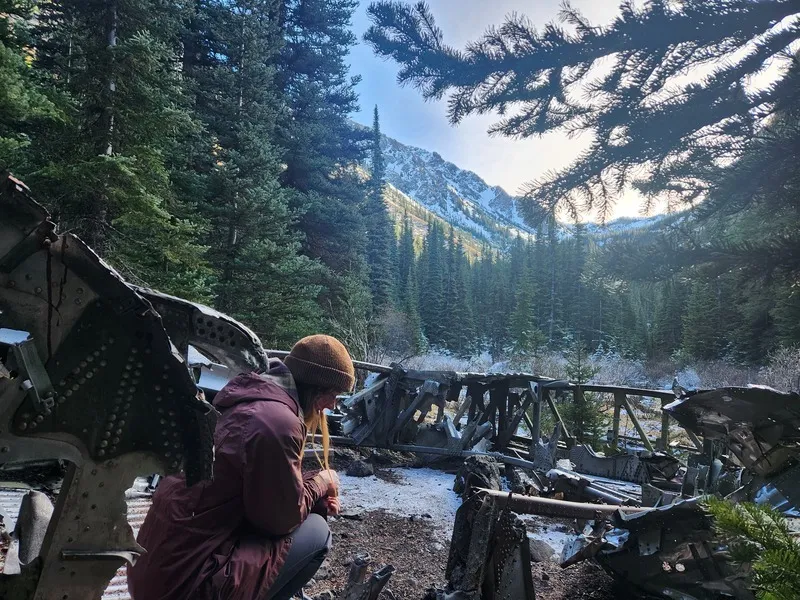
[[[401,217],[399,213],[413,204],[418,216],[421,211],[433,213],[476,240],[496,247],[512,237],[534,234],[519,213],[519,199],[503,188],[489,185],[436,152],[402,144],[386,135],[382,136],[381,149],[389,184],[387,201],[396,216]],[[661,218],[619,219],[604,226],[589,224],[587,230],[607,235],[651,227]],[[563,234],[569,232],[565,227]]]

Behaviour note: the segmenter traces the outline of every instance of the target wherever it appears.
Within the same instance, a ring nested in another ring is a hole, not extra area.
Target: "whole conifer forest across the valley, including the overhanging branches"
[[[0,171],[125,279],[268,347],[760,366],[800,344],[796,1],[624,2],[603,28],[565,5],[544,29],[498,15],[463,50],[424,4],[373,3],[366,42],[453,123],[593,135],[517,199],[527,232],[469,250],[389,210],[381,107],[352,120],[358,4],[0,0]],[[625,189],[666,212],[604,229]]]

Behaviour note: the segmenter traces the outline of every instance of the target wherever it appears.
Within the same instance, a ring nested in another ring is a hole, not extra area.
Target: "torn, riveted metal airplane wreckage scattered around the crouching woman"
[[[58,234],[23,183],[0,179],[0,463],[68,464],[54,505],[30,492],[19,514],[4,515],[15,526],[0,598],[101,598],[145,552],[126,517],[131,482],[179,470],[190,485],[211,477],[209,401],[270,355],[282,353],[226,315],[126,283],[80,239]],[[795,393],[357,367],[368,374],[363,389],[329,415],[334,445],[463,460],[449,585],[437,598],[535,597],[519,514],[576,519],[583,532],[562,566],[595,560],[642,597],[753,598],[699,497],[789,514],[800,503]],[[613,397],[605,455],[578,443],[558,410],[590,392]],[[660,404],[658,439],[636,416],[641,398]],[[543,410],[556,424],[546,436]],[[620,432],[623,411],[635,439]],[[673,422],[683,430],[671,440]],[[499,490],[501,468],[512,492]],[[391,575],[353,572],[345,597],[363,600]]]

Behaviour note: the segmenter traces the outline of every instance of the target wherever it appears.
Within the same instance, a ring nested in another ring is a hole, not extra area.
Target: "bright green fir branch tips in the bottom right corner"
[[[757,598],[800,598],[800,543],[783,515],[769,507],[713,497],[706,507],[731,558],[752,570]]]

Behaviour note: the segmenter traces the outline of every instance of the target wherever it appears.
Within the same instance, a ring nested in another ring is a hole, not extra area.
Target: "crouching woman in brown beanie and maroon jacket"
[[[164,478],[139,532],[147,552],[128,568],[134,600],[284,600],[316,573],[339,511],[324,409],[355,383],[344,345],[303,338],[266,373],[243,373],[214,398],[214,479]],[[324,468],[303,474],[308,431],[320,427]]]

